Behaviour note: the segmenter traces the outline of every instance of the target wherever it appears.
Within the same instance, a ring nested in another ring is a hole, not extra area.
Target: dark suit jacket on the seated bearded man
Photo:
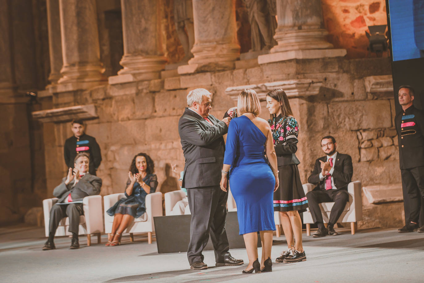
[[[315,161],[314,170],[308,178],[308,182],[316,185],[314,190],[325,191],[325,178],[320,181],[319,174],[321,173],[321,163],[319,161],[327,161],[327,157],[323,156]],[[353,175],[352,158],[349,154],[338,152],[334,163],[334,172],[332,177],[334,185],[339,190],[347,190],[347,185],[351,182]]]

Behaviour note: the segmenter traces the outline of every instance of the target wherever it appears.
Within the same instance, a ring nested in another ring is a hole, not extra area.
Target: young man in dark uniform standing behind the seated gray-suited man
[[[84,133],[85,127],[82,120],[73,120],[71,130],[74,135],[65,141],[63,147],[67,167],[74,168],[74,159],[77,154],[85,152],[90,156],[89,173],[96,176],[96,170],[102,161],[100,147],[96,139]]]

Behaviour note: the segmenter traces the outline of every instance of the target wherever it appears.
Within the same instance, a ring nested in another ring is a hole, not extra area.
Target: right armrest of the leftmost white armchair
[[[85,216],[87,233],[102,233],[103,215],[102,215],[102,196],[86,196],[82,199],[82,205]]]

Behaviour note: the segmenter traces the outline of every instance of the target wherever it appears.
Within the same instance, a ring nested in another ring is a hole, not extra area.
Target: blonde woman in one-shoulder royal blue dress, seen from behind
[[[259,98],[254,90],[243,90],[237,102],[238,118],[231,120],[220,182],[229,185],[237,205],[240,235],[243,235],[249,264],[243,273],[272,271],[272,231],[275,230],[273,192],[278,188],[277,157],[271,127],[258,118]],[[269,163],[268,165],[267,159]],[[257,241],[262,242],[262,259],[258,261]]]

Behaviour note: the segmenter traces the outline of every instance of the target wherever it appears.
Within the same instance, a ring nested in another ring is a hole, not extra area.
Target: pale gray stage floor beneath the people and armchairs
[[[273,272],[243,275],[246,267],[215,267],[213,251],[204,252],[210,267],[190,269],[185,253],[158,254],[156,242],[137,241],[143,236],[123,238],[117,247],[96,244],[70,250],[70,238],[55,239],[56,250],[42,251],[44,228],[16,225],[0,228],[1,282],[422,282],[424,233],[399,234],[396,229],[349,229],[338,236],[304,236],[307,261],[273,263]],[[172,230],[170,230],[172,233]],[[284,236],[274,237],[273,261],[286,249]],[[259,249],[259,254],[260,254]],[[245,249],[231,250],[247,261]]]

